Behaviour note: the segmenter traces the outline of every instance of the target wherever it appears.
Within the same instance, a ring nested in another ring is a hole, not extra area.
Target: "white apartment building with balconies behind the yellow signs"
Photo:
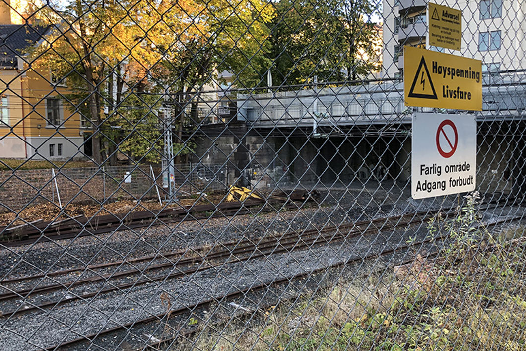
[[[383,0],[382,76],[398,78],[403,70],[403,46],[426,47],[426,0]],[[437,0],[438,5],[462,11],[461,51],[427,47],[454,55],[480,59],[482,71],[526,68],[526,1]]]

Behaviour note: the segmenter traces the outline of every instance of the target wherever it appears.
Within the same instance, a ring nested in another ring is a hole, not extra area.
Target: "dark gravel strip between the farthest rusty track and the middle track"
[[[375,194],[375,196],[372,196]],[[209,218],[179,224],[151,226],[137,230],[120,230],[75,240],[37,243],[0,250],[0,277],[38,274],[70,267],[115,262],[122,259],[166,253],[196,246],[214,246],[241,238],[257,239],[284,230],[308,230],[336,226],[428,208],[448,207],[456,200],[407,199],[393,185],[388,191],[364,188],[320,191],[318,203],[299,210],[280,213]]]

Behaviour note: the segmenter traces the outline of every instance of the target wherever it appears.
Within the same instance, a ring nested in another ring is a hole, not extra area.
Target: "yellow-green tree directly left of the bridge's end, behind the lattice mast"
[[[196,15],[189,15],[192,23],[199,25],[198,33],[181,41],[173,32],[170,45],[161,48],[163,60],[153,67],[151,75],[157,87],[165,87],[170,94],[176,119],[174,146],[176,163],[187,151],[183,139],[184,126],[200,123],[197,114],[201,93],[207,87],[217,86],[218,73],[233,73],[239,85],[253,86],[259,82],[259,73],[269,65],[265,46],[270,30],[267,26],[274,16],[274,9],[263,0],[197,0],[192,8]],[[173,19],[167,18],[168,27]],[[166,43],[168,44],[168,43]]]

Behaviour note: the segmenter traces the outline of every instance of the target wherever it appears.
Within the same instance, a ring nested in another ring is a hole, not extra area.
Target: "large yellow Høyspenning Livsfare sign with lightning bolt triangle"
[[[406,106],[482,111],[482,62],[412,46],[403,53]]]

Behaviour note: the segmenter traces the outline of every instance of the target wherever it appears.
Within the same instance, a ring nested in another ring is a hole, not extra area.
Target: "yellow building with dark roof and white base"
[[[27,49],[40,45],[49,31],[11,24],[9,11],[0,8],[0,157],[84,156],[80,117],[63,96],[64,83],[27,62]]]

